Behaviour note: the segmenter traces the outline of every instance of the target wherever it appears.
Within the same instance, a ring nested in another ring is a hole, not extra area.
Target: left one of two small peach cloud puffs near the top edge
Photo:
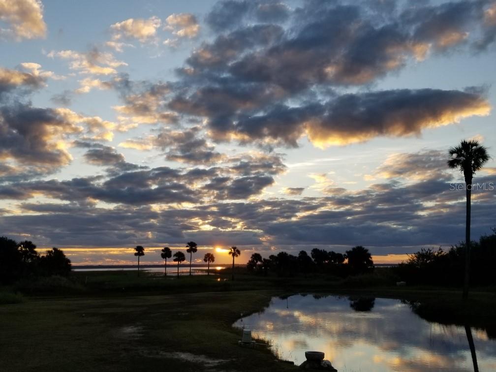
[[[140,43],[154,41],[157,29],[160,27],[161,20],[152,16],[148,19],[129,18],[122,22],[114,23],[110,26],[113,32],[113,41],[121,39],[136,39]]]

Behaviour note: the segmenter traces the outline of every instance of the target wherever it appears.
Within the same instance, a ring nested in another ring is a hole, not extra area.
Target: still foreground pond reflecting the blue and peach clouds
[[[340,372],[473,371],[465,327],[422,319],[392,299],[295,295],[238,320],[299,365],[322,351]],[[471,328],[480,371],[496,371],[496,340]],[[241,332],[240,332],[241,333]]]

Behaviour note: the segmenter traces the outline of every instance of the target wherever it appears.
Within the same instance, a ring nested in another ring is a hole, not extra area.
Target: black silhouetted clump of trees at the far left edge
[[[71,270],[70,259],[62,249],[48,249],[45,254],[36,250],[31,241],[16,242],[0,237],[0,281],[10,283],[30,276],[67,276]]]

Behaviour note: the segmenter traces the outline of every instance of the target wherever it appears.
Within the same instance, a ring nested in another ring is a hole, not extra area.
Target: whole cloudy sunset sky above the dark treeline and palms
[[[496,156],[495,1],[0,0],[0,235],[73,264],[465,237]],[[496,226],[496,162],[472,237]]]

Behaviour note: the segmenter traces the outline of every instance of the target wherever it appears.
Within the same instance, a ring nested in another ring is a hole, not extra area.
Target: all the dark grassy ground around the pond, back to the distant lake
[[[446,322],[496,325],[496,296],[488,292],[463,304],[459,291],[345,288],[322,277],[73,275],[76,284],[62,295],[46,291],[0,305],[2,371],[297,371],[265,347],[238,346],[240,331],[231,325],[272,296],[300,291],[416,300],[431,320],[447,312]]]

